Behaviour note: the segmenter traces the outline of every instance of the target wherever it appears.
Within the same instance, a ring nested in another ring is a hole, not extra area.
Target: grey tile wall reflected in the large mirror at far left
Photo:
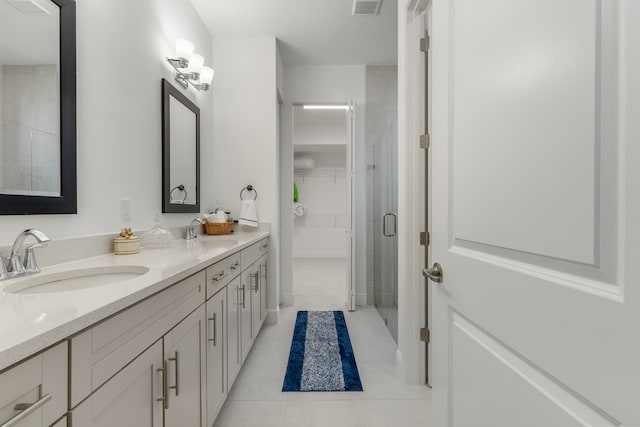
[[[0,192],[60,193],[57,65],[0,65]]]

